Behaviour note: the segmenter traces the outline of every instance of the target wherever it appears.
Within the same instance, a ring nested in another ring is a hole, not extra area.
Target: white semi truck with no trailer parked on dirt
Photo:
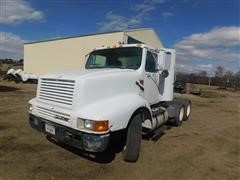
[[[114,132],[123,132],[125,161],[138,160],[142,135],[171,121],[180,126],[191,111],[173,97],[175,50],[145,44],[94,49],[84,70],[39,78],[29,101],[29,123],[54,139],[101,152]]]

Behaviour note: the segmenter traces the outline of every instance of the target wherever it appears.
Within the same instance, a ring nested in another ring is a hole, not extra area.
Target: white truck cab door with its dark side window
[[[147,51],[144,73],[144,98],[150,103],[159,102],[159,71],[157,67],[158,55]]]

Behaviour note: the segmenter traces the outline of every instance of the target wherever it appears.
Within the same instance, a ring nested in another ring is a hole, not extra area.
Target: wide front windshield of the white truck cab
[[[127,47],[96,50],[90,53],[86,69],[122,68],[138,69],[142,60],[142,48]]]

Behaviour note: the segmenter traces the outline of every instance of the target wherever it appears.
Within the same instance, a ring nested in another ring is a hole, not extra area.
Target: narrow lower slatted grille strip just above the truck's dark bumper
[[[37,106],[37,112],[39,115],[45,117],[46,119],[53,118],[56,120],[66,121],[68,122],[70,119],[70,115],[62,112],[58,112],[55,110],[47,109],[44,107]]]

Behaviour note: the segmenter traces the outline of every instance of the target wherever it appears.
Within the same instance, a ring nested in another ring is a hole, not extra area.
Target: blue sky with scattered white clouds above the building
[[[239,0],[0,0],[0,58],[23,58],[25,42],[149,27],[178,71],[240,68]]]

